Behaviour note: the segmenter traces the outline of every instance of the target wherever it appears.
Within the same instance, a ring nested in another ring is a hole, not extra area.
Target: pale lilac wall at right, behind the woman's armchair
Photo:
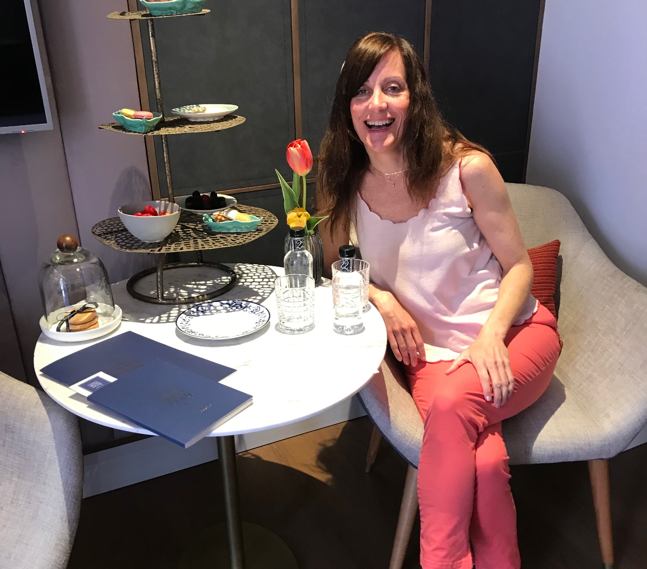
[[[526,181],[647,285],[647,3],[546,0]]]

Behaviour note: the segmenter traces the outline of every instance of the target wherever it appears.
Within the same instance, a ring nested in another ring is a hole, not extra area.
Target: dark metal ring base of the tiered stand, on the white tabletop
[[[220,263],[210,263],[209,261],[203,261],[201,251],[196,251],[196,254],[197,254],[197,263],[165,263],[164,261],[166,260],[166,254],[165,253],[160,254],[157,267],[140,271],[136,275],[133,275],[128,279],[128,282],[126,283],[126,290],[128,291],[128,294],[130,294],[133,298],[136,298],[137,300],[151,303],[153,305],[188,305],[191,303],[211,300],[212,298],[220,296],[221,294],[225,294],[225,292],[227,292],[228,290],[232,290],[232,288],[236,286],[238,275],[236,275],[236,272],[232,268]],[[207,294],[199,294],[195,296],[189,296],[186,298],[182,298],[182,297],[165,298],[164,297],[164,271],[165,270],[177,269],[182,267],[199,267],[199,266],[208,266],[208,267],[219,269],[221,271],[226,272],[228,275],[230,275],[229,282],[226,283],[225,286],[221,286],[221,288],[214,290],[213,292],[208,292]],[[157,287],[156,287],[157,297],[149,296],[148,294],[142,294],[141,292],[137,292],[137,290],[135,290],[135,283],[137,283],[144,277],[147,277],[148,275],[152,275],[153,273],[157,273]]]

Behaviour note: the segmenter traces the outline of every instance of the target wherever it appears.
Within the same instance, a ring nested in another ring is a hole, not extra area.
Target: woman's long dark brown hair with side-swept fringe
[[[477,150],[492,158],[485,148],[468,141],[443,120],[424,65],[406,39],[386,32],[366,34],[346,54],[337,80],[330,121],[319,150],[317,196],[320,213],[330,215],[331,233],[336,228],[348,230],[356,195],[369,167],[364,144],[353,127],[351,99],[380,59],[391,51],[402,56],[409,90],[401,144],[411,199],[417,204],[426,204],[439,178],[459,156]]]

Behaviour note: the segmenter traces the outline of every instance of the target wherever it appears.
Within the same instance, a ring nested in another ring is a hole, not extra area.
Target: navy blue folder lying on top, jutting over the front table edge
[[[247,393],[162,360],[142,365],[88,400],[185,449],[252,404]]]

